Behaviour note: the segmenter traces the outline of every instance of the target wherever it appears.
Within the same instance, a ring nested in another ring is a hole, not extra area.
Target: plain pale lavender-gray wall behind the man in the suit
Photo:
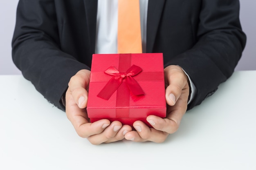
[[[21,74],[11,59],[11,38],[18,0],[0,0],[0,75]],[[256,70],[256,1],[240,0],[240,20],[247,44],[236,70]]]

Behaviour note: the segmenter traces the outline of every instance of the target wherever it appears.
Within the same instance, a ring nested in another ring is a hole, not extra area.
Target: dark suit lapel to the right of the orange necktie
[[[152,53],[165,0],[148,0],[146,52]]]

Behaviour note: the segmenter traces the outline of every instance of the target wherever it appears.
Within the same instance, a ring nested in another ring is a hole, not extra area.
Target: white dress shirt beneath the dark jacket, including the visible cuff
[[[141,22],[142,52],[145,53],[148,0],[139,0],[139,10]],[[95,53],[117,53],[117,20],[118,0],[98,0]],[[189,81],[191,86],[191,97],[189,100],[190,103],[194,98],[196,88],[190,77]]]

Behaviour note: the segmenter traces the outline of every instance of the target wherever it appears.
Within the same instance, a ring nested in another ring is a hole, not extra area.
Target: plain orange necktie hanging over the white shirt
[[[142,53],[139,0],[118,0],[118,53]]]

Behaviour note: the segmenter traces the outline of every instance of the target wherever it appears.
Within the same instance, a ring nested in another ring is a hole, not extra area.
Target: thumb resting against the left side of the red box
[[[90,71],[81,70],[71,77],[68,84],[72,97],[80,108],[85,108],[88,101],[88,86],[90,82]]]

